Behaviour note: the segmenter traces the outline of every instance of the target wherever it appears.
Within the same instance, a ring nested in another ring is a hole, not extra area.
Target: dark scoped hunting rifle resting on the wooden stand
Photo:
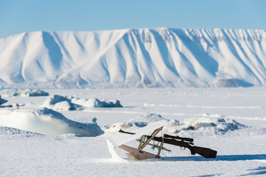
[[[119,130],[119,132],[120,133],[132,134],[132,135],[135,134],[135,133],[131,133],[131,132],[125,132],[123,130]],[[197,154],[199,154],[199,155],[201,155],[201,156],[203,156],[205,158],[216,158],[216,154],[217,154],[216,150],[212,150],[210,148],[202,148],[202,147],[197,147],[197,146],[191,146],[191,145],[194,145],[192,143],[193,142],[192,138],[183,138],[183,137],[171,136],[171,135],[167,135],[167,134],[164,134],[163,137],[155,137],[155,136],[150,136],[150,135],[143,135],[142,137],[147,137],[147,140],[145,142],[142,142],[142,140],[144,140],[142,138],[141,140],[137,140],[137,141],[140,141],[140,143],[143,143],[143,144],[151,145],[151,144],[149,144],[149,142],[151,140],[154,140],[154,141],[157,141],[157,142],[161,142],[161,147],[160,148],[162,148],[162,149],[163,149],[162,143],[166,143],[166,144],[170,144],[170,145],[179,146],[183,150],[188,148],[188,149],[190,149],[191,155],[195,155],[197,153]],[[143,147],[143,145],[141,147]],[[140,152],[141,152],[142,148],[138,148],[138,149],[140,149]],[[127,149],[125,149],[125,150],[127,150]],[[160,151],[160,149],[159,149],[159,151]],[[143,153],[143,152],[141,152],[141,153]],[[156,156],[156,158],[158,158],[158,157]]]

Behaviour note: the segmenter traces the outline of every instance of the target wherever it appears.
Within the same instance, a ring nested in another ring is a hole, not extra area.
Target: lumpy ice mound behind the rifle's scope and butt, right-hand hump
[[[171,123],[172,121],[172,123]],[[235,120],[227,118],[205,118],[195,117],[187,118],[179,124],[173,123],[174,120],[170,120],[170,124],[164,127],[164,132],[179,133],[182,130],[198,130],[209,132],[227,132],[230,130],[236,130],[242,127],[246,127]]]

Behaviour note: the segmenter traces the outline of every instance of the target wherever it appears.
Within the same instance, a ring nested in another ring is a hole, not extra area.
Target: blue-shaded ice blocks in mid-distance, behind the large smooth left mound
[[[118,100],[98,100],[97,98],[81,99],[75,97],[64,97],[60,95],[53,95],[46,99],[40,107],[46,107],[53,110],[79,110],[86,108],[109,108],[122,107]]]

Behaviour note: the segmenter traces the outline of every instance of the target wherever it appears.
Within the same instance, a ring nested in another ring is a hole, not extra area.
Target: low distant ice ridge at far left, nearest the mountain
[[[48,96],[49,94],[42,90],[32,90],[32,89],[12,89],[12,88],[2,88],[0,89],[0,94],[4,96]]]

